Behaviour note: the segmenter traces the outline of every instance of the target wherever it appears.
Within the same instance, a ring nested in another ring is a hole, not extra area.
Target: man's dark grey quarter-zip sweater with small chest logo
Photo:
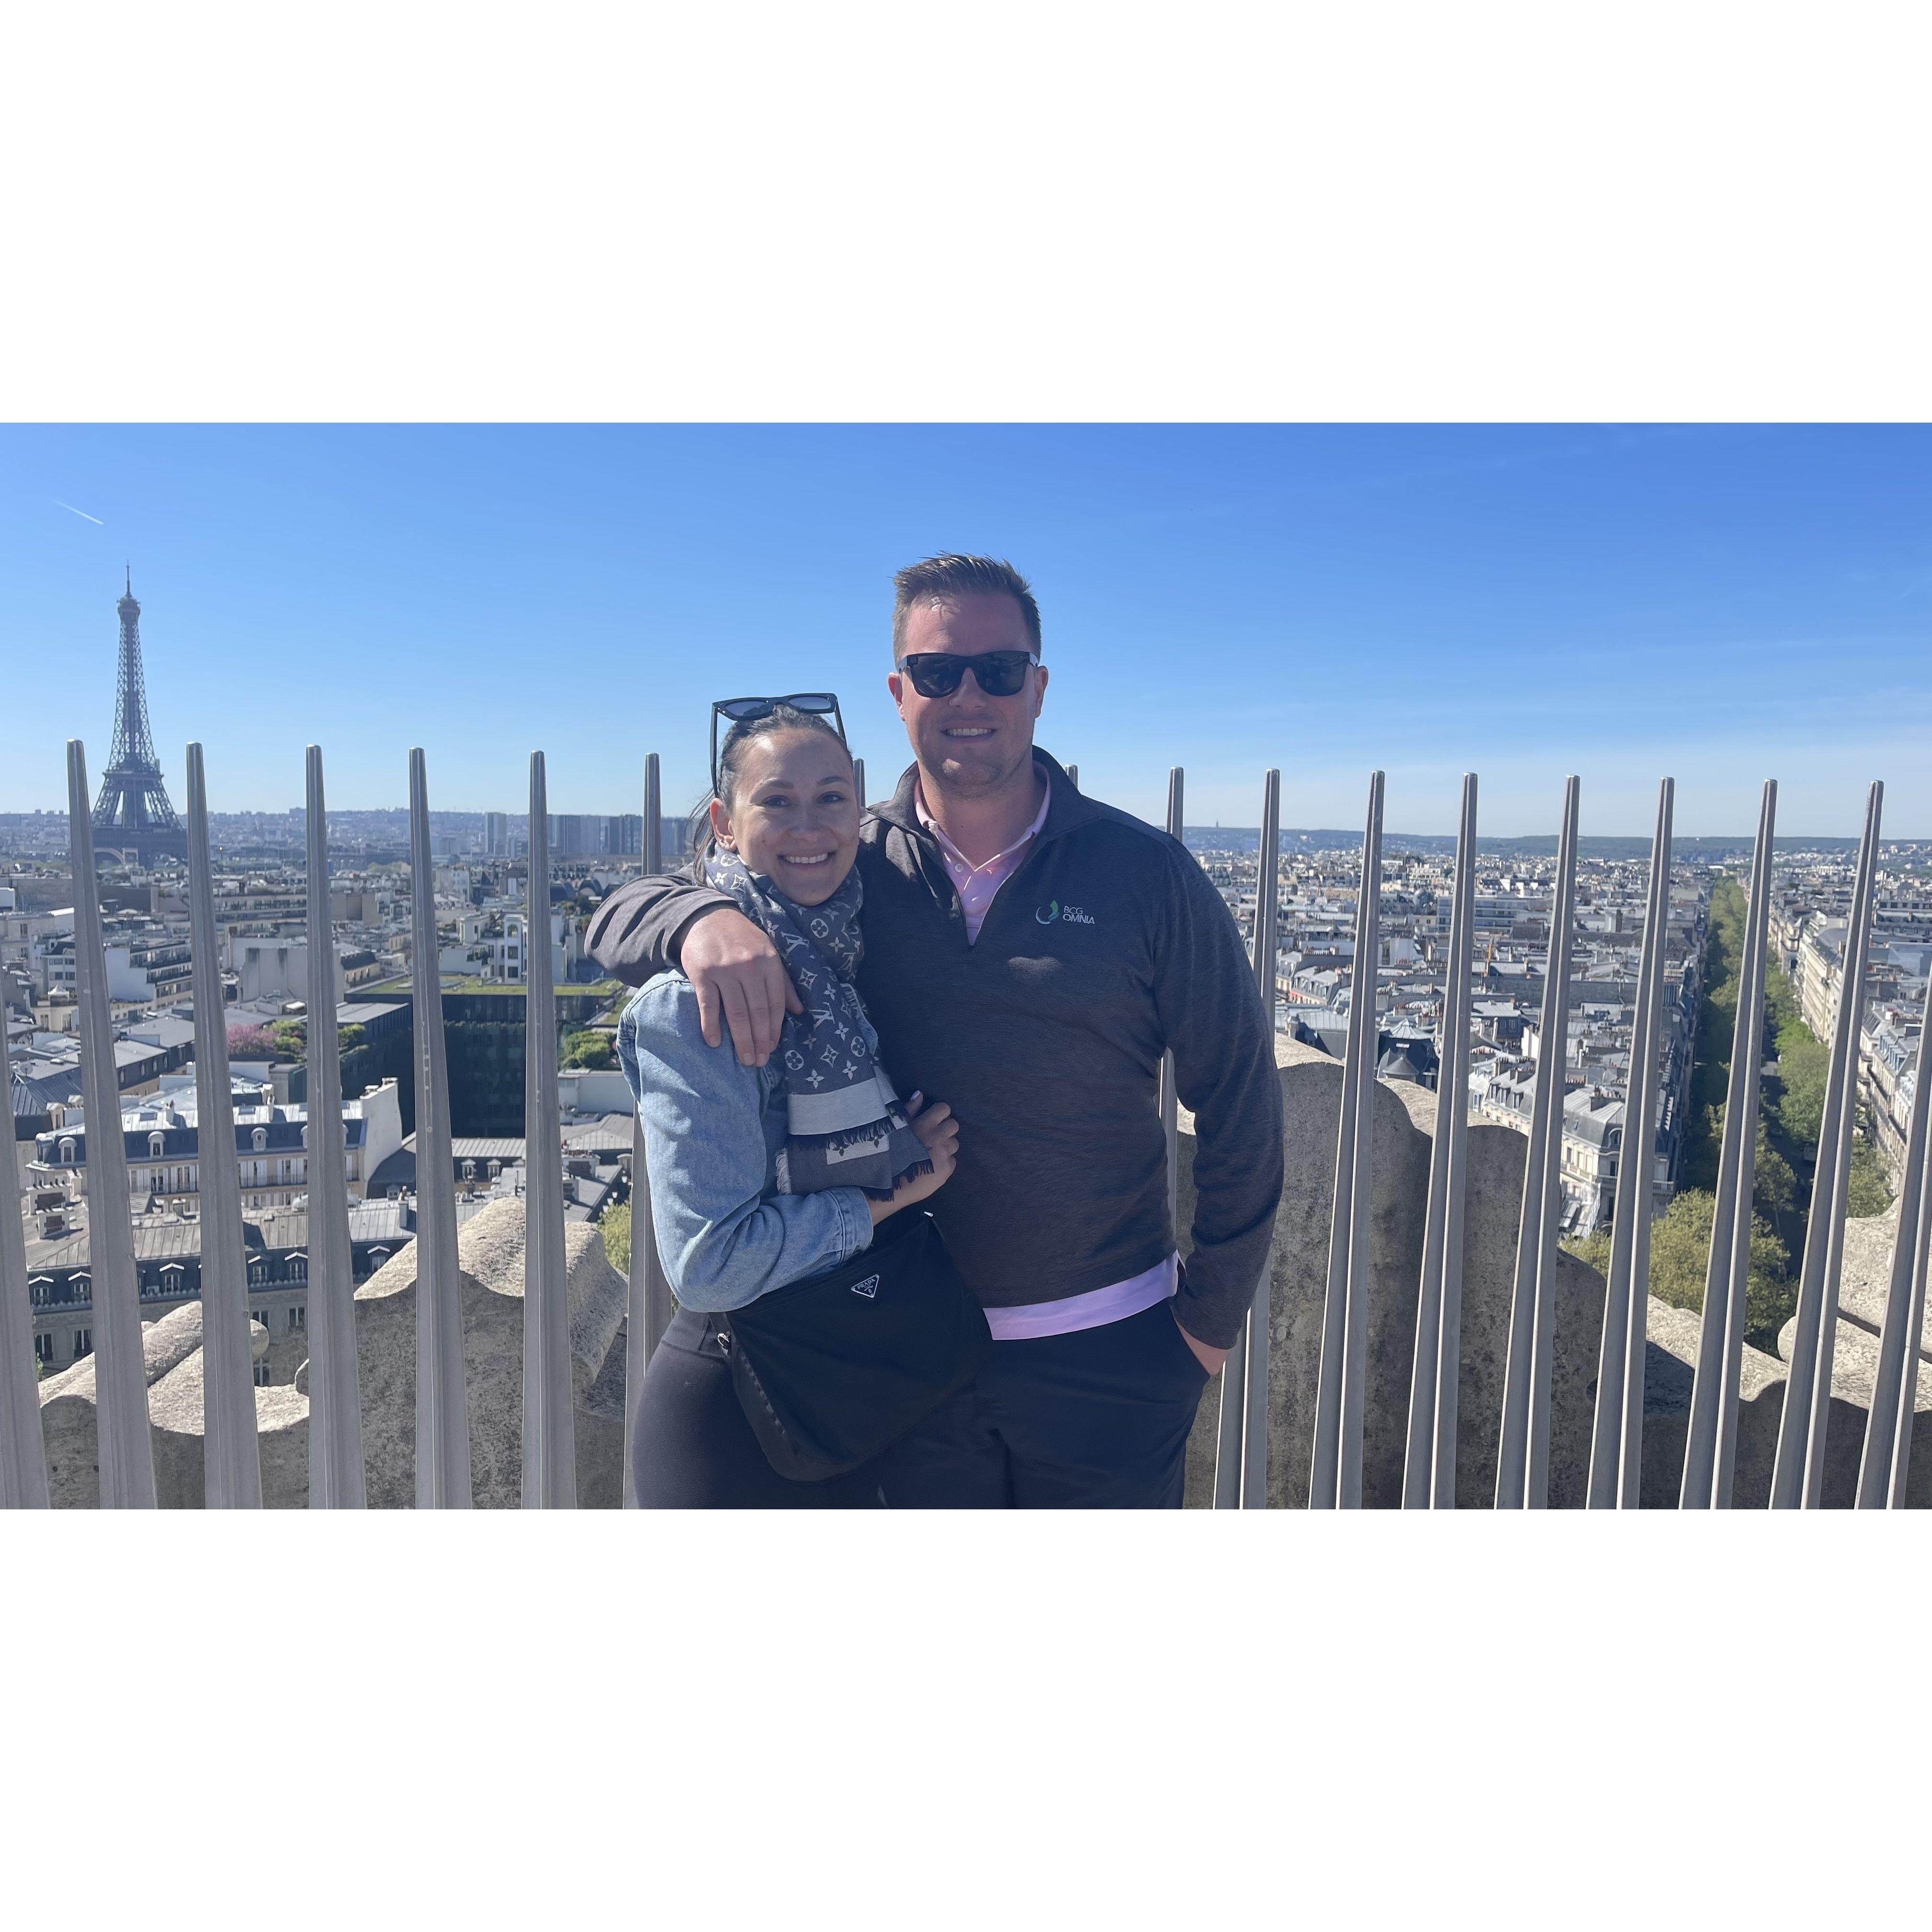
[[[858,989],[900,1094],[945,1099],[960,1159],[933,1215],[987,1308],[1086,1294],[1175,1246],[1159,1117],[1163,1049],[1194,1113],[1194,1252],[1175,1310],[1213,1347],[1240,1333],[1281,1198],[1281,1088],[1246,949],[1188,850],[1082,798],[1045,752],[1047,823],[976,945],[914,769],[867,813]],[[620,887],[591,922],[599,964],[639,983],[676,964],[688,877]],[[728,1049],[719,1049],[728,1051]]]

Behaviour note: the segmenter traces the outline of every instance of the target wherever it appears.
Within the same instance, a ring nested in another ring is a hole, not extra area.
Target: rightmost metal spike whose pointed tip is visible
[[[1872,895],[1878,875],[1878,825],[1886,802],[1874,784],[1864,802],[1864,838],[1845,933],[1832,1026],[1832,1070],[1826,1074],[1818,1165],[1812,1171],[1799,1273],[1799,1320],[1791,1337],[1791,1378],[1777,1424],[1772,1509],[1818,1509],[1824,1499],[1824,1437],[1832,1412],[1832,1360],[1837,1349],[1837,1285],[1845,1267],[1845,1202],[1851,1192],[1851,1142],[1859,1126],[1859,1020],[1864,1016],[1864,962],[1872,947]],[[1924,1047],[1920,1045],[1920,1053]]]

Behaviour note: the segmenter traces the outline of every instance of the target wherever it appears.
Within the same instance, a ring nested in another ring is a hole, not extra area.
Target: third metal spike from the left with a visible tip
[[[336,925],[328,908],[323,748],[307,752],[309,844],[309,1509],[363,1509],[355,1366],[355,1258],[336,1032]]]

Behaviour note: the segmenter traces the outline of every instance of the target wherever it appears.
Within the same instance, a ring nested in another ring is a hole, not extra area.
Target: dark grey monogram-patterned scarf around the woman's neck
[[[779,1150],[779,1192],[864,1188],[887,1200],[908,1175],[931,1173],[925,1144],[906,1124],[893,1082],[866,1043],[866,1009],[852,985],[866,951],[858,867],[823,906],[792,904],[736,852],[713,852],[705,877],[771,933],[806,1003],[779,1032],[792,1130]]]

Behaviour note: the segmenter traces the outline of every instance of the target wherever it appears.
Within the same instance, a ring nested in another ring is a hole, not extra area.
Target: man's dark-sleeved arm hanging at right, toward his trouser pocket
[[[1192,858],[1175,867],[1157,951],[1155,1005],[1196,1136],[1194,1252],[1175,1320],[1188,1341],[1225,1350],[1240,1335],[1281,1204],[1275,1043],[1235,916]]]

